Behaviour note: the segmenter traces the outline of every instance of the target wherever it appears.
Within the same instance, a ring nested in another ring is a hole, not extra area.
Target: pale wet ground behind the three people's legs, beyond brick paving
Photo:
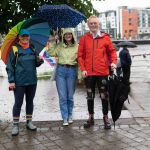
[[[0,95],[0,114],[2,121],[12,120],[12,106],[13,106],[13,92],[8,91],[7,79],[0,78],[2,90]],[[95,98],[95,118],[102,118],[101,100],[99,95]],[[74,119],[86,119],[87,114],[87,100],[86,91],[83,85],[78,86],[74,96]],[[25,120],[25,102],[21,110],[21,121]],[[110,113],[109,116],[111,117]],[[128,110],[122,112],[121,118],[131,118]],[[56,91],[55,82],[50,80],[39,80],[37,85],[37,92],[34,99],[34,121],[52,121],[61,120],[59,110],[59,100]]]

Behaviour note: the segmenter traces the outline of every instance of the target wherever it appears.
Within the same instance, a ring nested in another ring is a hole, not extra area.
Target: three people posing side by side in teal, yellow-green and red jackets
[[[55,80],[63,125],[68,126],[73,122],[73,96],[79,64],[87,88],[89,112],[84,128],[94,125],[94,97],[97,85],[102,101],[104,128],[110,129],[107,92],[108,66],[111,60],[111,69],[116,68],[116,50],[109,35],[100,31],[100,22],[96,16],[91,16],[87,24],[90,31],[81,37],[79,44],[73,31],[69,28],[64,29],[61,41],[56,43],[55,40],[58,38],[56,36],[49,38],[47,51],[51,56],[58,58]],[[15,45],[18,48],[18,54],[16,55],[12,48],[6,66],[9,88],[14,90],[15,95],[12,135],[19,133],[19,117],[24,95],[26,95],[27,129],[36,131],[36,126],[32,123],[32,114],[37,85],[36,66],[40,64],[37,64],[34,48],[29,41],[30,34],[26,30],[21,30],[19,42]],[[42,58],[39,57],[39,59]]]

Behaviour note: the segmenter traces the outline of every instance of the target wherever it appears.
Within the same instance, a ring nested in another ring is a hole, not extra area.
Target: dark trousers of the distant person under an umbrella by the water
[[[130,74],[131,74],[131,66],[122,67],[123,71],[123,80],[126,84],[129,84]]]

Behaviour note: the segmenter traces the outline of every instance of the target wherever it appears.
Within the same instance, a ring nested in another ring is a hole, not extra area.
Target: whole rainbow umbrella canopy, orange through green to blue
[[[27,29],[30,32],[31,43],[35,46],[38,53],[44,48],[48,41],[50,27],[46,21],[39,18],[30,18],[19,22],[5,36],[4,42],[0,49],[1,59],[5,64],[7,63],[9,51],[12,45],[14,45],[17,41],[17,37],[21,29]]]

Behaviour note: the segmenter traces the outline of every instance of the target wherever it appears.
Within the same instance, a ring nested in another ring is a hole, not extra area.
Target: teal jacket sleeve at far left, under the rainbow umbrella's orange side
[[[8,82],[15,83],[15,55],[13,50],[10,50],[7,64],[6,64],[6,71],[8,75]]]

